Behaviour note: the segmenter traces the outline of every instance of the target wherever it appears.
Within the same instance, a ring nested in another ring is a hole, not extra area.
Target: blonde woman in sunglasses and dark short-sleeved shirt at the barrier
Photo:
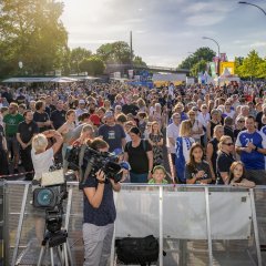
[[[231,136],[224,135],[219,140],[218,156],[217,156],[217,180],[218,185],[229,184],[229,168],[235,162],[233,157],[234,142]]]

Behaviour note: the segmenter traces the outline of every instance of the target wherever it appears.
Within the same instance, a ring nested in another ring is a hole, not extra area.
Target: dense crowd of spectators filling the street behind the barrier
[[[65,173],[68,147],[101,137],[127,162],[124,182],[265,185],[266,84],[170,86],[0,86],[0,175],[33,178],[41,133],[48,147],[62,137],[54,156]]]

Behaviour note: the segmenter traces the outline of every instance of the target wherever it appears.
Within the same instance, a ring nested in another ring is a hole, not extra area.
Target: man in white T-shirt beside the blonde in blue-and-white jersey
[[[171,154],[171,168],[172,176],[176,177],[175,170],[175,142],[177,136],[180,135],[180,126],[181,126],[181,115],[178,113],[172,114],[172,123],[166,127],[166,146],[167,152]]]

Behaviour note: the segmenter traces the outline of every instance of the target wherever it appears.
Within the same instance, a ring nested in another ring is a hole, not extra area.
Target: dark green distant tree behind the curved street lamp
[[[190,54],[184,61],[182,61],[177,68],[191,70],[201,60],[204,60],[206,62],[213,61],[215,54],[216,53],[207,47],[198,48],[194,53]]]

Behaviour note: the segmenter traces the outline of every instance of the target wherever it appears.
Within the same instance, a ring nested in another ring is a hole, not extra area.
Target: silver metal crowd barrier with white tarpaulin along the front
[[[73,264],[82,265],[83,193],[78,183],[68,186],[63,226]],[[4,265],[37,264],[44,211],[31,201],[30,183],[6,182]],[[115,204],[115,237],[153,234],[160,242],[158,265],[266,265],[259,247],[266,245],[266,186],[123,184]],[[120,265],[114,245],[111,265]]]

